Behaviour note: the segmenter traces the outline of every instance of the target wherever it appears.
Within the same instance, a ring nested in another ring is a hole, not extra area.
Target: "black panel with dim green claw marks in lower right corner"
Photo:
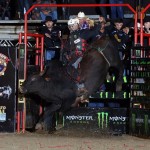
[[[131,109],[130,133],[136,136],[150,136],[150,109]]]

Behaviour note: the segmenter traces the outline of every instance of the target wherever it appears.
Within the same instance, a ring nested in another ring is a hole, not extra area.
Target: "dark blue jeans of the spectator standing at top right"
[[[123,0],[109,0],[110,4],[123,4]],[[123,8],[122,6],[111,7],[111,19],[120,18],[123,19]]]

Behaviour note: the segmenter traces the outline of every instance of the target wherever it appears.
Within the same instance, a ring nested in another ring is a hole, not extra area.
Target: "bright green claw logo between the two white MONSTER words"
[[[104,124],[105,127],[107,128],[108,125],[108,113],[107,112],[98,112],[98,127],[102,127],[102,129],[104,128]]]

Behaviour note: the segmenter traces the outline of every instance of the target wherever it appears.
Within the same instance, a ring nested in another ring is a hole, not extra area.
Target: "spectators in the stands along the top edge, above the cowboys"
[[[24,13],[34,4],[70,4],[70,0],[0,0],[0,20],[17,20],[24,19]],[[97,0],[97,4],[123,4],[126,0]],[[132,6],[132,5],[131,5]],[[132,6],[133,8],[136,6]],[[105,19],[124,18],[124,7],[99,7],[97,15]],[[136,9],[136,8],[134,8]],[[36,7],[28,15],[28,19],[45,20],[46,16],[51,16],[53,20],[69,19],[71,14],[69,7]],[[89,14],[90,15],[90,14]]]

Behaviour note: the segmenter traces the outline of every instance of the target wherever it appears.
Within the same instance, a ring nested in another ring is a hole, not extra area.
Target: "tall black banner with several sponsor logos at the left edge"
[[[0,132],[15,131],[16,52],[14,47],[0,47]]]

